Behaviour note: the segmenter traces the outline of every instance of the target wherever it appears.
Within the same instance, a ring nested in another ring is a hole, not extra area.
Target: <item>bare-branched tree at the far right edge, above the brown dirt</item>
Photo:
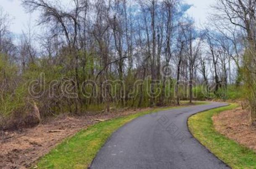
[[[228,20],[232,25],[238,26],[245,32],[245,39],[247,40],[246,47],[248,51],[244,54],[243,62],[244,81],[248,89],[247,99],[251,108],[251,121],[256,119],[256,76],[255,76],[255,51],[256,51],[256,20],[255,20],[256,0],[218,0],[214,9],[219,11],[215,14],[217,19]]]

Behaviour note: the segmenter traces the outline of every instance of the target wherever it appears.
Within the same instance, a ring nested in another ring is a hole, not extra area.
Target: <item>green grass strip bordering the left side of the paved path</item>
[[[196,102],[205,104],[206,102]],[[180,106],[183,107],[183,106]],[[125,123],[145,114],[168,110],[177,107],[157,108],[124,117],[103,121],[78,132],[75,136],[65,139],[49,154],[42,157],[39,169],[85,169],[94,159],[97,151],[103,146],[107,138]]]

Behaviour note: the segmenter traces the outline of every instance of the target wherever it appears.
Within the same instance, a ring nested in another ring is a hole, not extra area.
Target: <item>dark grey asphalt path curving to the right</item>
[[[91,169],[225,169],[229,168],[193,138],[187,119],[226,103],[160,111],[118,129],[104,144]]]

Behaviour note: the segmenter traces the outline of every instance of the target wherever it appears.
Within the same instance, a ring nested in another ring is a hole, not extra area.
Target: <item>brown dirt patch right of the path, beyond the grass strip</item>
[[[256,126],[251,126],[249,119],[249,111],[241,107],[212,117],[217,131],[256,151]]]

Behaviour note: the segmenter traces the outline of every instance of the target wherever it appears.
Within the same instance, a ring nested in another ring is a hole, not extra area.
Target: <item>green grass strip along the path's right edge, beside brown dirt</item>
[[[237,106],[237,104],[230,104],[230,106],[191,116],[188,119],[188,127],[201,144],[233,169],[256,169],[256,154],[254,151],[227,139],[215,131],[213,126],[212,116],[214,114],[231,110]]]

